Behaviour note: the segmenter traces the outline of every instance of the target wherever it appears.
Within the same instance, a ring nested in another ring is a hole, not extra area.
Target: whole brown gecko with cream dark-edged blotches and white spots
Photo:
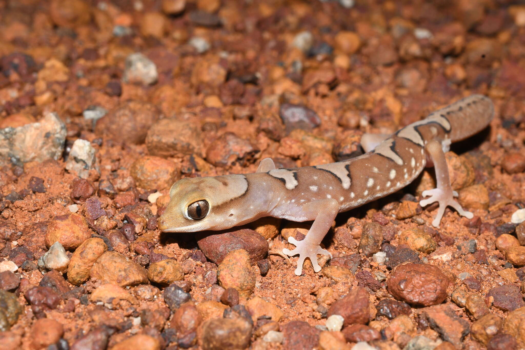
[[[436,188],[425,190],[422,207],[437,202],[432,221],[439,226],[445,208],[472,218],[454,199],[445,160],[450,143],[485,129],[494,115],[492,101],[474,94],[430,113],[392,135],[364,134],[365,154],[346,161],[297,168],[276,168],[271,158],[259,163],[256,173],[183,178],[170,188],[170,201],[159,218],[164,232],[224,230],[272,216],[292,221],[311,221],[306,237],[288,242],[299,255],[295,274],[304,260],[313,270],[321,267],[317,254],[331,257],[320,243],[338,213],[397,192],[410,184],[425,167],[433,166]]]

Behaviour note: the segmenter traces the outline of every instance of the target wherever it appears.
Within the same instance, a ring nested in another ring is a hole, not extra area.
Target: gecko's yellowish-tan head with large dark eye
[[[236,205],[248,190],[244,175],[183,178],[170,189],[170,202],[159,218],[164,232],[223,230],[236,226]]]

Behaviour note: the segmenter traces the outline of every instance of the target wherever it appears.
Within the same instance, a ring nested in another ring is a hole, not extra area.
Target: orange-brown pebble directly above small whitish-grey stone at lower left
[[[91,231],[86,218],[76,213],[65,214],[49,223],[46,246],[51,247],[55,242],[60,242],[64,249],[73,250],[88,238],[91,238]]]

